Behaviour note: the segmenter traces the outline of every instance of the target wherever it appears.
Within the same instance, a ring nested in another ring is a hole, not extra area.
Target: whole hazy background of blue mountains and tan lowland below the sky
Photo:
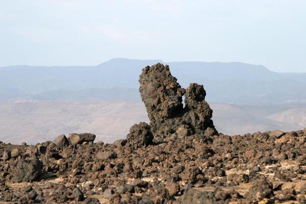
[[[36,144],[71,132],[92,132],[110,143],[124,139],[130,126],[149,121],[138,77],[141,67],[157,62],[117,58],[97,66],[0,68],[0,141]],[[167,64],[182,86],[203,84],[223,134],[306,126],[304,73],[238,62]]]

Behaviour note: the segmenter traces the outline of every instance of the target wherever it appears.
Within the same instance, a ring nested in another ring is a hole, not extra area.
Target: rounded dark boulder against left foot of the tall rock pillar
[[[130,133],[126,136],[126,141],[133,148],[145,147],[152,144],[153,135],[150,131],[150,126],[145,122],[133,125]]]

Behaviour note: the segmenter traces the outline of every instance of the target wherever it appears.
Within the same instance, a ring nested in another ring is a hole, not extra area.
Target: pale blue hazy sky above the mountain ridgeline
[[[304,0],[1,0],[0,66],[112,58],[306,72]]]

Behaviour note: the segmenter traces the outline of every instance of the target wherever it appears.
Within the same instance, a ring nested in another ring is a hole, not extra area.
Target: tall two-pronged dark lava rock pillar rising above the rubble
[[[145,67],[139,83],[155,139],[175,133],[182,125],[188,125],[192,134],[217,134],[211,120],[213,111],[205,101],[206,92],[202,85],[190,84],[185,90],[171,75],[169,66],[160,63]]]

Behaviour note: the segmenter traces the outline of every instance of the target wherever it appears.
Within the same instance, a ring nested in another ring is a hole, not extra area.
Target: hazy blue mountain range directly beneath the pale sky
[[[241,62],[162,62],[112,59],[97,66],[0,68],[0,101],[140,100],[141,69],[168,64],[183,87],[203,84],[213,103],[245,105],[306,102],[306,73],[277,73]]]

